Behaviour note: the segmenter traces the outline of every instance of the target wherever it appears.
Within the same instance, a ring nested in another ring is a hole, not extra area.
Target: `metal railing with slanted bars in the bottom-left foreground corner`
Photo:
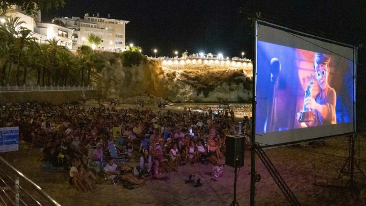
[[[60,206],[40,186],[0,157],[0,205]]]

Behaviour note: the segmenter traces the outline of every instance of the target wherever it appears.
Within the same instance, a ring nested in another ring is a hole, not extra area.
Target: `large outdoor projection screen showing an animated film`
[[[257,22],[256,142],[354,132],[355,56],[349,45]]]

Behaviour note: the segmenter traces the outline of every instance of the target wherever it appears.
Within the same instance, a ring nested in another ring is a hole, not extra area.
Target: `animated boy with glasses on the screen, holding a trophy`
[[[315,78],[318,80],[320,92],[317,96],[306,98],[305,107],[314,112],[314,121],[306,123],[307,126],[320,126],[336,124],[336,91],[329,86],[328,76],[330,56],[315,53],[314,55],[314,70]],[[299,117],[298,117],[299,119]]]

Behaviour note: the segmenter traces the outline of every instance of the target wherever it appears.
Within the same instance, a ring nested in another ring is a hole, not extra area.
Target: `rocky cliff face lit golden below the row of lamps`
[[[107,98],[147,93],[171,102],[244,102],[251,98],[251,69],[225,64],[168,65],[149,60],[123,67],[117,60],[106,63],[93,82]]]

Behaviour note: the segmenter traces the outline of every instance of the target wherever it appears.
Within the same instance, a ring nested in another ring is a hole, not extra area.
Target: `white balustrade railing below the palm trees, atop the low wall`
[[[46,91],[88,91],[95,90],[94,87],[80,87],[80,86],[50,86],[41,87],[38,86],[10,86],[9,84],[5,87],[0,87],[0,92],[46,92]]]

